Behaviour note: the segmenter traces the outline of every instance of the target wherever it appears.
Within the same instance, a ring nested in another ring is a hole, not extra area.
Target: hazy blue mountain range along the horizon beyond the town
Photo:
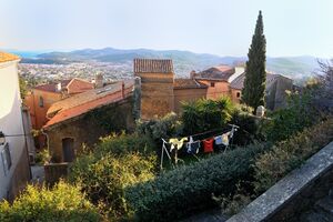
[[[28,54],[28,57],[26,57]],[[191,70],[203,70],[218,64],[235,64],[246,61],[246,57],[219,57],[208,53],[193,53],[179,50],[150,49],[83,49],[71,52],[24,53],[23,63],[54,63],[67,64],[72,62],[109,62],[114,64],[132,65],[134,58],[168,58],[174,63],[175,73],[188,77]],[[292,79],[304,79],[313,75],[319,69],[317,58],[314,57],[281,57],[266,60],[266,69],[271,72],[285,74]]]

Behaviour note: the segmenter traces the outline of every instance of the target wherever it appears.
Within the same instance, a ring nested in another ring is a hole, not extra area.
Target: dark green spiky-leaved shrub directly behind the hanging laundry
[[[224,127],[231,119],[232,110],[230,98],[221,98],[216,101],[201,99],[184,103],[181,117],[184,133],[193,134]]]

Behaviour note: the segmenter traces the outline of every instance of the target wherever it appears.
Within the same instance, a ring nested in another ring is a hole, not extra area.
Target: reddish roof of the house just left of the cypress
[[[195,79],[228,81],[235,72],[235,69],[229,65],[212,67],[208,70],[195,73]]]

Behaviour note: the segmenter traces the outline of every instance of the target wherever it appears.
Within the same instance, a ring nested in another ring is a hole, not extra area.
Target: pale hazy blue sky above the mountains
[[[0,48],[246,56],[259,10],[269,56],[333,57],[333,0],[0,0]]]

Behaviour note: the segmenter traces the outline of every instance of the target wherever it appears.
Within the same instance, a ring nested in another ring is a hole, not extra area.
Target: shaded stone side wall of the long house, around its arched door
[[[100,137],[121,130],[133,131],[133,97],[111,103],[97,111],[90,111],[84,117],[71,119],[47,131],[52,162],[63,162],[62,140],[73,139],[74,153],[82,150],[83,144],[93,145]]]

